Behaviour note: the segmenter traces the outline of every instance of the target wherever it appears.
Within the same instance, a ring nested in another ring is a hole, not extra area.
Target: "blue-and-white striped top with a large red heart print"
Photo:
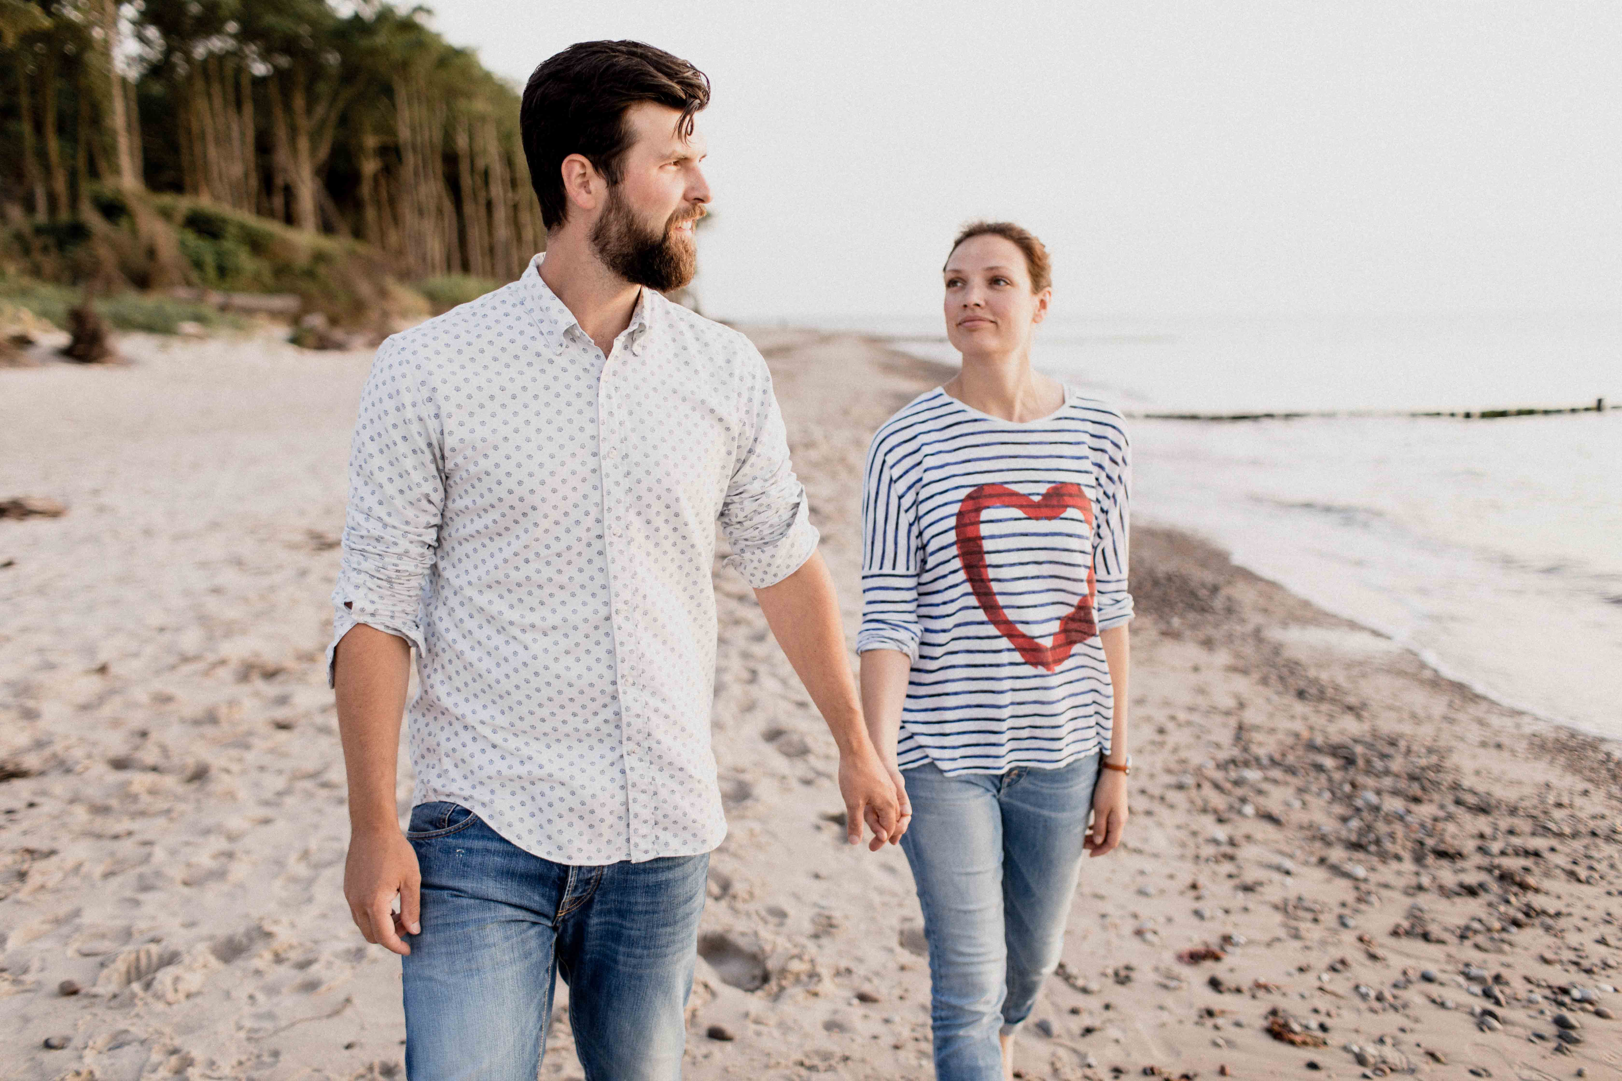
[[[1108,752],[1098,632],[1132,617],[1129,488],[1121,413],[1071,389],[1030,423],[934,389],[879,428],[856,648],[913,658],[903,770],[1004,773]]]

